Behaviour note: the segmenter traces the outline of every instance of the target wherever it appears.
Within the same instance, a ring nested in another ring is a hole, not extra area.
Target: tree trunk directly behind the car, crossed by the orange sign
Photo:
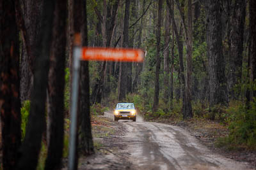
[[[125,15],[124,15],[124,41],[123,41],[123,47],[128,48],[129,47],[129,16],[130,16],[130,0],[125,0]],[[125,93],[126,93],[126,81],[127,81],[127,63],[120,62],[120,73],[119,73],[119,85],[118,85],[118,101],[122,101],[125,99]]]

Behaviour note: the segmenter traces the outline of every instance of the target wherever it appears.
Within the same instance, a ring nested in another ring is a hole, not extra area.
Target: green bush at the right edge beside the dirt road
[[[217,146],[226,146],[228,149],[256,149],[256,102],[252,108],[246,109],[243,104],[230,106],[223,115],[228,124],[229,134],[217,141]]]

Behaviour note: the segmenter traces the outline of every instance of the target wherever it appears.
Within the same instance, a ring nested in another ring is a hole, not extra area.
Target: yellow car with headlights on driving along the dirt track
[[[133,103],[118,103],[114,111],[114,120],[131,119],[136,122],[136,110]]]

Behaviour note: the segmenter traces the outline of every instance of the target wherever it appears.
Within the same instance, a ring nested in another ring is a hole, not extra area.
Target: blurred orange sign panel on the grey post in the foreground
[[[140,49],[83,47],[82,60],[112,60],[142,62],[145,53]]]

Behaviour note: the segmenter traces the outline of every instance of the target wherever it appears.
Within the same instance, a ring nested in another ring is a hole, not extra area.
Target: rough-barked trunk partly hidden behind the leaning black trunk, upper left
[[[22,57],[20,61],[20,99],[23,102],[31,98],[34,72],[33,62],[36,57],[36,39],[38,39],[40,29],[43,1],[20,0],[20,2],[22,4],[22,11],[19,12],[23,14],[22,17],[24,18],[24,28],[21,29],[24,38],[22,38]],[[25,32],[26,34],[24,34]]]

